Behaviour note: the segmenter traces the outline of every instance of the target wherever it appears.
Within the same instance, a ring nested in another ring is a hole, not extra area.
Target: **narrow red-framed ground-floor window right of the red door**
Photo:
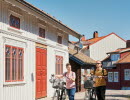
[[[56,55],[56,74],[63,74],[63,57]]]

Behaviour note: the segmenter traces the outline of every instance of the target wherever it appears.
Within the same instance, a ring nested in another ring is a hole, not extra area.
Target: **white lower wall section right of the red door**
[[[63,56],[63,72],[65,72],[65,65],[68,63],[68,52],[47,47],[47,55],[47,95],[51,97],[53,96],[54,89],[52,88],[52,84],[49,82],[49,79],[51,78],[51,74],[55,74],[56,55]]]

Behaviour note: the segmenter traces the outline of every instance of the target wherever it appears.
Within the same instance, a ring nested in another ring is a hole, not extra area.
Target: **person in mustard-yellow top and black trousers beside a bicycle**
[[[107,71],[102,68],[101,61],[96,61],[96,69],[91,71],[91,75],[98,76],[95,78],[95,88],[98,100],[105,100]]]

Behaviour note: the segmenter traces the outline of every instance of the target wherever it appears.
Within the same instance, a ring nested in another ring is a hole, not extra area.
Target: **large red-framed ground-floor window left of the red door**
[[[23,81],[23,48],[5,46],[5,81]]]

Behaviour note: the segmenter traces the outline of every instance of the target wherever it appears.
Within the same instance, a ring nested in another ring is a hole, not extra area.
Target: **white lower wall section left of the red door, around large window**
[[[1,40],[1,92],[0,100],[34,100],[34,81],[31,80],[31,73],[35,68],[35,43],[26,41],[17,37],[0,33]],[[5,45],[11,45],[24,48],[24,81],[23,82],[5,82]]]

